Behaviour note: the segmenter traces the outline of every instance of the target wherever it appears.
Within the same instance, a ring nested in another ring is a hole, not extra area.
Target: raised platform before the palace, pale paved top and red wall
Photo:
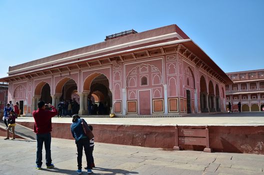
[[[249,113],[254,115],[253,113]],[[264,114],[264,113],[263,113]],[[225,115],[225,114],[224,114]],[[161,147],[175,146],[175,126],[178,129],[205,129],[208,125],[209,147],[212,151],[264,154],[264,117],[191,116],[155,118],[85,118],[93,125],[97,142]],[[262,113],[257,113],[262,115]],[[20,117],[17,123],[33,128],[32,117]],[[52,118],[52,137],[72,139],[71,118]],[[203,150],[202,145],[181,145],[183,149]]]

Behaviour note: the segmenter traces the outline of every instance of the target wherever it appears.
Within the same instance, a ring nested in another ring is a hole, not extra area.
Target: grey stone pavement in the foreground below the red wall
[[[51,157],[55,167],[43,166],[37,170],[35,140],[3,138],[0,136],[1,175],[77,174],[74,140],[52,138]],[[175,151],[95,142],[93,156],[96,166],[93,174],[264,174],[264,155],[257,154]],[[87,174],[84,168],[82,172]]]

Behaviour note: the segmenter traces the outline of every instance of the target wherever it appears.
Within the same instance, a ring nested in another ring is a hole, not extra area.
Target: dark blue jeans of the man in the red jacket
[[[36,164],[38,166],[42,165],[42,147],[43,142],[45,144],[45,152],[46,152],[46,165],[51,163],[51,151],[50,151],[50,143],[51,143],[51,134],[48,133],[37,133],[36,134]]]

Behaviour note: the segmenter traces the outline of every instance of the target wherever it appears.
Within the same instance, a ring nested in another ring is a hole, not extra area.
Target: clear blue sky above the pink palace
[[[264,68],[264,0],[0,0],[0,77],[8,66],[177,24],[225,72]]]

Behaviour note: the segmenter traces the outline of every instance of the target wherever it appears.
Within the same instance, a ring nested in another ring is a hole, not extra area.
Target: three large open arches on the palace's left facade
[[[47,81],[40,81],[33,89],[32,110],[37,108],[39,100],[45,103],[52,103],[57,108],[57,104],[61,100],[71,100],[74,98],[79,104],[78,114],[88,114],[89,101],[93,105],[104,105],[105,114],[109,114],[112,109],[112,94],[109,89],[109,79],[103,74],[94,72],[88,75],[81,84],[82,88],[78,88],[78,82],[72,77],[63,77],[54,83],[54,88]],[[82,90],[80,90],[82,89]]]

